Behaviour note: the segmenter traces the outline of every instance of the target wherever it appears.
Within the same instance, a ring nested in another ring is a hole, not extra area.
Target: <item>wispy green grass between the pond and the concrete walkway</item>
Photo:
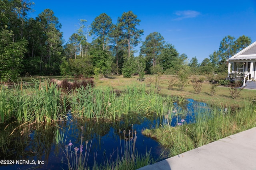
[[[169,150],[169,156],[206,145],[241,131],[256,127],[256,107],[244,101],[244,107],[214,107],[205,111],[195,109],[196,123],[184,123],[176,127],[168,124],[143,131],[143,134],[156,139]]]

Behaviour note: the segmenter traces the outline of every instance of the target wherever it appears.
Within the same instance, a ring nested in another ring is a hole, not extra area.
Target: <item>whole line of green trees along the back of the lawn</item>
[[[250,37],[238,39],[228,35],[202,63],[196,57],[188,62],[174,45],[166,43],[158,32],[141,40],[144,30],[138,29],[140,20],[132,12],[124,12],[116,23],[107,14],[97,16],[88,25],[81,19],[79,27],[64,44],[62,25],[54,12],[45,9],[36,18],[30,0],[0,0],[0,78],[15,79],[26,75],[107,76],[122,74],[131,77],[145,72],[176,74],[180,66],[188,64],[195,74],[226,72],[226,59],[247,47]],[[92,42],[88,42],[92,36]],[[134,47],[142,43],[134,56]]]

